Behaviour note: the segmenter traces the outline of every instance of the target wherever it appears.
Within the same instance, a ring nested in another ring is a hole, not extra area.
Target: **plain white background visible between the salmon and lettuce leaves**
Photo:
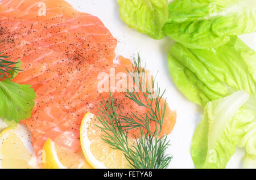
[[[173,155],[169,168],[194,168],[190,155],[190,144],[197,124],[201,121],[202,109],[189,102],[176,88],[168,70],[167,52],[174,41],[166,37],[163,40],[152,38],[130,29],[121,21],[118,4],[115,0],[66,0],[76,10],[87,12],[101,19],[112,35],[117,38],[117,55],[132,59],[137,53],[141,55],[143,63],[162,89],[166,89],[167,102],[172,110],[177,111],[177,122],[170,135],[171,147],[168,152]],[[256,33],[243,35],[242,40],[256,50]],[[229,161],[227,168],[241,168],[243,149],[238,148],[236,154]]]

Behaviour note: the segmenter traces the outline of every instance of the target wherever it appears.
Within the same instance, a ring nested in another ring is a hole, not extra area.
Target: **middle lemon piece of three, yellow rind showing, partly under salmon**
[[[73,153],[68,148],[55,144],[51,139],[44,143],[45,160],[42,166],[46,169],[91,169],[82,152]]]

